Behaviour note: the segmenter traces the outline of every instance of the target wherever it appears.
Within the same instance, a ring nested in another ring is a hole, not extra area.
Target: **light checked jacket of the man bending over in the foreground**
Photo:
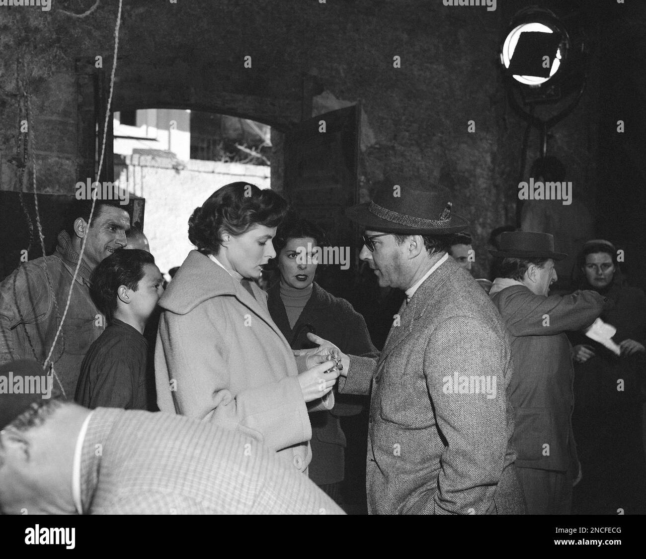
[[[84,514],[343,514],[240,430],[165,412],[96,408],[81,447]]]

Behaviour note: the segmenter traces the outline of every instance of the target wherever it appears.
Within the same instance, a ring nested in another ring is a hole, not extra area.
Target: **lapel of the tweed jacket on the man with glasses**
[[[450,281],[450,278],[459,269],[460,267],[455,263],[455,260],[448,258],[422,282],[421,286],[413,293],[413,297],[408,304],[406,304],[406,301],[402,303],[399,313],[395,315],[393,326],[390,328],[384,349],[379,357],[380,363],[412,332],[415,321],[432,311],[431,306],[432,302],[437,299],[437,291],[441,290],[444,284]]]

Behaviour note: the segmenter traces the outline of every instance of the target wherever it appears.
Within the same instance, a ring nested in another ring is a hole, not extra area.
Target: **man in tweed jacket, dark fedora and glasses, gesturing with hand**
[[[339,390],[370,394],[366,485],[373,514],[523,512],[514,472],[508,335],[469,273],[448,256],[466,221],[446,189],[380,189],[348,209],[364,227],[359,255],[406,301],[377,355],[344,355],[315,335],[317,363],[340,357]]]

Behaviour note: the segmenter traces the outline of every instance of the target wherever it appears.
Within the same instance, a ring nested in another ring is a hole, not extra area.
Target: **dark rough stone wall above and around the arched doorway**
[[[304,77],[314,80],[339,100],[362,103],[374,140],[360,158],[362,183],[394,176],[397,184],[446,185],[456,211],[472,222],[482,255],[489,231],[515,220],[517,184],[526,173],[525,124],[506,103],[497,48],[508,18],[529,3],[500,2],[490,12],[441,0],[125,0],[112,107],[214,111],[280,132],[311,114],[302,92]],[[37,185],[48,191],[73,188],[79,153],[87,148],[76,59],[103,56],[110,70],[116,3],[101,3],[81,19],[59,10],[79,11],[82,4],[61,0],[48,14],[23,9],[28,16],[21,17],[40,31],[39,43],[15,25],[0,28],[2,45],[23,41],[16,56],[33,67],[23,81],[33,98]],[[586,3],[592,5],[601,2]],[[47,56],[39,56],[43,49]],[[1,189],[19,188],[9,162],[19,138],[11,95],[25,88],[16,86],[14,62],[9,57],[0,76]],[[567,159],[580,185],[575,192],[590,206],[598,187],[595,71],[581,105],[557,125],[550,144]],[[475,132],[468,132],[469,121]],[[280,146],[275,151],[280,160]],[[528,163],[536,155],[533,132]],[[273,174],[280,184],[280,173]],[[477,264],[484,273],[486,262]]]

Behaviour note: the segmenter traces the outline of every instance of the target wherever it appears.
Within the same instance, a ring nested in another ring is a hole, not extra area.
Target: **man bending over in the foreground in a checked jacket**
[[[36,361],[0,367],[5,514],[343,513],[273,450],[230,426],[89,410],[52,393],[51,381],[35,390],[42,375]]]

